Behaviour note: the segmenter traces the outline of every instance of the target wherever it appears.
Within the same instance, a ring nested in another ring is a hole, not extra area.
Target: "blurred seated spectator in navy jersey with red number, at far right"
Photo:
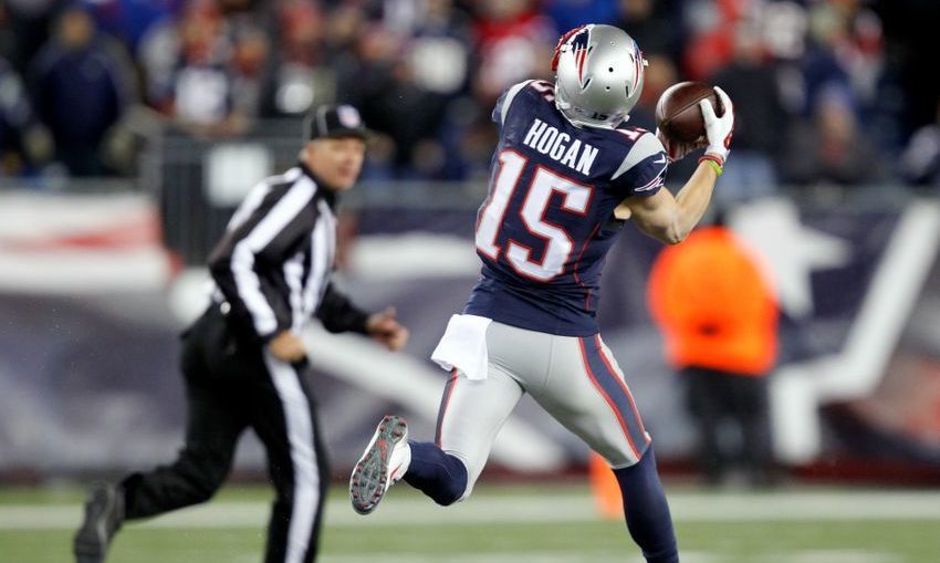
[[[865,185],[882,177],[878,153],[859,132],[852,104],[836,88],[822,95],[812,123],[798,123],[781,173],[798,185]]]

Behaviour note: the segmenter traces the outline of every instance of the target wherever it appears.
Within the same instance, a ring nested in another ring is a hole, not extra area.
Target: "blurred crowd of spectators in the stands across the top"
[[[165,127],[237,137],[357,105],[370,179],[485,177],[490,111],[550,77],[561,33],[619,25],[661,92],[735,101],[723,197],[780,185],[940,189],[937,0],[0,0],[0,176],[136,174]],[[292,129],[294,131],[294,129]]]

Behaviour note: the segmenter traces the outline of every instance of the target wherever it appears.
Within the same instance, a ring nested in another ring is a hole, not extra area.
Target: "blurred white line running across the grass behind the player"
[[[781,520],[938,520],[940,492],[787,492],[773,493],[671,493],[669,502],[677,522],[740,522]],[[263,502],[210,502],[157,518],[139,525],[163,529],[260,528],[268,521]],[[345,499],[331,499],[327,526],[452,525],[493,522],[589,522],[598,520],[587,494],[540,497],[534,494],[480,496],[448,509],[417,498],[396,498],[395,491],[369,517],[355,514]],[[63,530],[77,525],[81,507],[0,505],[0,531]],[[940,522],[938,522],[940,523]],[[807,560],[807,561],[813,561]]]

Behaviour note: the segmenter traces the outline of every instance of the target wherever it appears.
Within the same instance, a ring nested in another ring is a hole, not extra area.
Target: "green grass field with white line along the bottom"
[[[685,563],[937,563],[940,491],[668,489]],[[108,563],[258,563],[264,488],[126,525]],[[0,490],[0,562],[70,562],[82,492]],[[396,487],[359,517],[328,500],[322,563],[595,563],[643,560],[620,521],[600,519],[583,486],[480,486],[443,509]]]

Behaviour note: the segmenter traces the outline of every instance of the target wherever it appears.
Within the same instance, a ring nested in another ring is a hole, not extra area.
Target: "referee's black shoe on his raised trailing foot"
[[[111,539],[123,522],[124,491],[111,483],[96,483],[85,501],[85,520],[72,545],[76,563],[103,563]]]

